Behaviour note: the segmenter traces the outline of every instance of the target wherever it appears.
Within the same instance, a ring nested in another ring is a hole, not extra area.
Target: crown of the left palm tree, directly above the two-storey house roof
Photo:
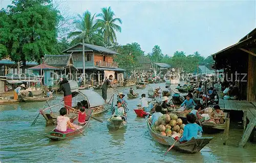
[[[68,38],[74,38],[71,45],[81,42],[103,45],[103,39],[98,32],[98,23],[95,21],[95,14],[91,15],[90,11],[86,11],[83,15],[78,14],[79,19],[74,21],[78,31],[71,32]]]

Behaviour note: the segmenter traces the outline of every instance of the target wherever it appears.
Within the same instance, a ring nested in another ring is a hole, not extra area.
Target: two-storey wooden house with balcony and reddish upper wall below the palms
[[[72,54],[74,67],[83,73],[83,47],[78,43],[71,48],[63,51],[65,54]],[[84,62],[86,69],[86,80],[97,81],[99,84],[110,75],[113,75],[117,81],[123,81],[123,72],[125,69],[119,68],[118,63],[113,61],[114,55],[120,55],[103,46],[84,43]]]

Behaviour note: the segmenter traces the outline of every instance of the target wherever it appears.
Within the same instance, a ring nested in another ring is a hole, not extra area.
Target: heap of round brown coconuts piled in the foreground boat
[[[158,121],[153,124],[152,130],[163,136],[173,136],[182,134],[184,127],[178,115],[169,113],[159,117]]]

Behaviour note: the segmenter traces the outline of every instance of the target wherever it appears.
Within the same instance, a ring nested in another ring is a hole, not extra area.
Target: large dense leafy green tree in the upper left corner
[[[3,12],[3,10],[1,11]],[[39,61],[44,54],[56,54],[59,15],[52,1],[13,0],[6,12],[10,22],[10,36],[3,41],[13,61]],[[0,18],[1,19],[1,18]]]

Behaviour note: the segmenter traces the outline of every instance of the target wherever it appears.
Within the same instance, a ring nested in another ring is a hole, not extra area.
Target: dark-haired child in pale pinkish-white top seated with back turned
[[[75,127],[70,122],[70,119],[66,117],[67,109],[65,107],[62,107],[59,110],[60,116],[57,117],[57,127],[55,129],[55,132],[61,132],[61,133],[68,133],[75,129]]]

